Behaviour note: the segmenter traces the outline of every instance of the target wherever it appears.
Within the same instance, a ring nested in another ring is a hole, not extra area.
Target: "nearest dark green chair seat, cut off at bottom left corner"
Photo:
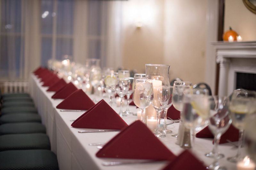
[[[0,152],[1,169],[58,170],[58,160],[48,150],[12,150]]]

